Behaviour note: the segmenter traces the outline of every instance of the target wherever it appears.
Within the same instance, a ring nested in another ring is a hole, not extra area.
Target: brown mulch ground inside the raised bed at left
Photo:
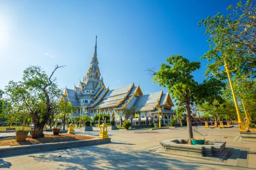
[[[44,137],[32,139],[31,136],[27,136],[25,141],[17,142],[16,136],[0,138],[0,146],[20,146],[20,145],[33,145],[41,143],[56,143],[56,142],[67,142],[75,140],[89,140],[93,139],[93,136],[84,135],[71,135],[71,134],[60,134],[60,135],[49,135],[44,134]]]

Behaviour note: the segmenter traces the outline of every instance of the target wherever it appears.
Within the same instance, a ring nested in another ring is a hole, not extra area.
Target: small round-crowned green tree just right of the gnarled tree
[[[69,114],[73,111],[73,105],[71,102],[60,101],[58,105],[61,114],[59,114],[59,119],[62,119],[63,122],[63,130],[65,130],[65,119],[69,117]]]

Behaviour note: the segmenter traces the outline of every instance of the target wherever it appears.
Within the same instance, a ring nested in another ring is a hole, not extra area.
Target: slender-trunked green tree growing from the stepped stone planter
[[[168,64],[161,64],[160,70],[154,73],[154,83],[167,87],[172,97],[179,107],[186,109],[187,129],[189,144],[191,144],[193,136],[191,106],[206,101],[220,100],[220,89],[223,84],[214,78],[203,81],[202,84],[197,83],[192,76],[192,72],[200,68],[200,63],[189,62],[188,59],[181,55],[172,55],[167,58]]]

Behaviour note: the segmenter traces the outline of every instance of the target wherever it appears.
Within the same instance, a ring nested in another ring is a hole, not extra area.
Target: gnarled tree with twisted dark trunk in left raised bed
[[[22,81],[10,81],[5,87],[6,101],[12,104],[12,108],[24,108],[32,117],[35,131],[40,132],[34,137],[43,137],[43,127],[51,115],[53,103],[61,96],[56,78],[53,78],[55,71],[61,67],[57,65],[48,77],[40,67],[31,66],[24,70]]]

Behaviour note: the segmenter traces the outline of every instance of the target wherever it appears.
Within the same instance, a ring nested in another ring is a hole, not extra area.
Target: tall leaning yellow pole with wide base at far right
[[[230,71],[229,71],[228,65],[227,65],[227,63],[226,63],[226,60],[224,60],[224,62],[225,62],[225,65],[224,65],[224,66],[225,66],[226,72],[227,72],[227,74],[228,74],[228,80],[229,80],[231,92],[232,92],[233,99],[234,99],[235,106],[236,106],[236,113],[237,113],[239,131],[240,131],[240,132],[247,132],[247,131],[245,130],[245,125],[244,125],[244,123],[242,122],[241,113],[240,113],[240,110],[239,110],[239,107],[238,107],[238,103],[237,103],[237,100],[236,100],[236,95],[235,95],[234,87],[233,87],[233,84],[232,84],[232,81],[231,81],[231,77],[230,77]]]

